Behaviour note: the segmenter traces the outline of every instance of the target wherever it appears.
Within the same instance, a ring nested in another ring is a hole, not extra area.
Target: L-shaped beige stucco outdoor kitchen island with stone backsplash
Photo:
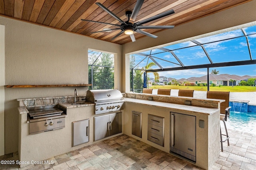
[[[220,154],[220,102],[223,100],[195,99],[186,97],[146,95],[146,94],[123,94],[124,109],[122,111],[122,133],[164,152],[170,152],[170,111],[196,116],[196,166],[210,169],[213,162]],[[153,101],[148,100],[151,97]],[[65,97],[22,99],[19,110],[19,145],[18,152],[20,161],[42,161],[53,156],[64,154],[111,137],[94,141],[94,104],[84,103],[72,105]],[[59,102],[58,100],[62,100]],[[50,102],[48,102],[50,101]],[[28,110],[26,108],[58,104],[60,109],[66,112],[66,125],[62,129],[47,131],[29,135],[27,121]],[[158,102],[162,101],[162,102]],[[184,101],[190,101],[192,106],[184,105]],[[42,103],[40,103],[42,102]],[[66,103],[65,103],[66,102]],[[167,103],[169,102],[169,103]],[[31,103],[32,106],[27,106]],[[178,104],[177,104],[178,103]],[[202,107],[199,107],[199,106]],[[132,111],[142,112],[142,138],[132,135]],[[107,115],[103,113],[101,115]],[[147,140],[148,114],[164,118],[164,147]],[[72,122],[89,119],[89,142],[72,147]],[[198,121],[204,121],[204,128],[199,127]],[[88,150],[88,152],[90,152]],[[89,154],[89,153],[88,153]],[[20,167],[27,166],[21,164]]]

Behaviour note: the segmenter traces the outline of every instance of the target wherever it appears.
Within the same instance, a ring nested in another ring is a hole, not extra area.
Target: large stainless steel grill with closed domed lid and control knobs
[[[88,90],[86,100],[95,104],[95,114],[118,111],[124,104],[122,93],[117,89]]]

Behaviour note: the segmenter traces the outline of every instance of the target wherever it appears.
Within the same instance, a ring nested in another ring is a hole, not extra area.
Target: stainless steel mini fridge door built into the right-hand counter
[[[171,114],[170,153],[196,162],[196,116]]]

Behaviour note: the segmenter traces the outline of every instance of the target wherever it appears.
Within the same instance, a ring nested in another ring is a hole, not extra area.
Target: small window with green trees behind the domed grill
[[[114,55],[89,50],[88,78],[90,90],[114,89]]]

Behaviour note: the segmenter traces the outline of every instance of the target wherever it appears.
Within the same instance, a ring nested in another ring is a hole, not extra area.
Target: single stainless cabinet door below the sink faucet
[[[72,122],[72,147],[89,142],[89,119]]]

